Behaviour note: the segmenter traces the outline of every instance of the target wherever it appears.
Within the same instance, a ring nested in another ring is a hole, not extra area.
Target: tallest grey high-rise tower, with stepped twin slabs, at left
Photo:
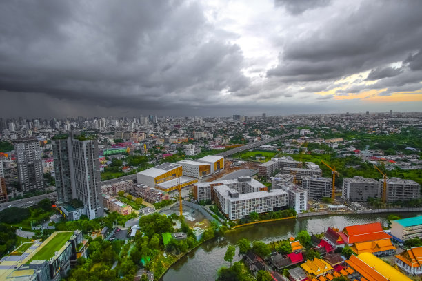
[[[90,220],[103,216],[103,198],[96,139],[72,132],[52,140],[57,201],[78,199]]]

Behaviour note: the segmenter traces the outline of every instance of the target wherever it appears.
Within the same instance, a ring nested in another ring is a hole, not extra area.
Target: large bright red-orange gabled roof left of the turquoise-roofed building
[[[391,238],[384,232],[381,222],[350,225],[343,229],[343,233],[348,236],[349,244]]]

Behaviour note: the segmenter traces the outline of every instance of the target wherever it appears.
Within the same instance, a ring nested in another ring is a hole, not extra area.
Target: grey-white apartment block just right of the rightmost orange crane
[[[379,180],[379,188],[383,190],[384,179]],[[387,179],[387,202],[405,202],[421,198],[421,185],[414,180],[402,178]]]

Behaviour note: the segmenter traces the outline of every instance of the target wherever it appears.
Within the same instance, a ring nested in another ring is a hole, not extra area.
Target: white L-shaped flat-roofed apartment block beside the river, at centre
[[[288,193],[282,189],[240,194],[227,185],[214,187],[215,199],[230,220],[245,218],[252,212],[265,213],[288,206]]]

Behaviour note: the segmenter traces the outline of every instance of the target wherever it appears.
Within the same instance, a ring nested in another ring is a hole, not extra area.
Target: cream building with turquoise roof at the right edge
[[[392,220],[391,235],[399,242],[416,237],[422,238],[422,216]]]

